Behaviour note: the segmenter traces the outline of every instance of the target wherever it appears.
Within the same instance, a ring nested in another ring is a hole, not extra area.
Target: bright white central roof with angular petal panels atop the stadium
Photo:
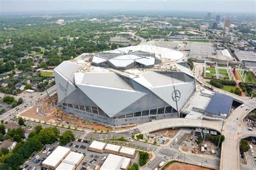
[[[183,53],[154,45],[137,45],[116,50],[99,52],[92,59],[96,66],[110,66],[114,69],[131,69],[134,67],[153,67],[162,59],[176,62],[183,59]]]

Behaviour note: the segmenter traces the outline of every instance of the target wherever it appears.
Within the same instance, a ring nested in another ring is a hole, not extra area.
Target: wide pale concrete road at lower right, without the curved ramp
[[[245,103],[244,107],[236,108],[225,120],[224,131],[225,140],[221,149],[220,169],[240,169],[239,142],[243,138],[254,136],[255,130],[248,131],[243,123],[248,113],[256,108],[256,100],[252,99]],[[249,165],[255,170],[255,164]],[[253,167],[254,166],[254,167]]]

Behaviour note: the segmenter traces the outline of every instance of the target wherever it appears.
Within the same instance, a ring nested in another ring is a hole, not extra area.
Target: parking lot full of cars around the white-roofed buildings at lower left
[[[78,152],[85,155],[84,159],[78,165],[77,169],[85,169],[85,166],[89,166],[89,167],[90,166],[93,167],[97,165],[101,166],[104,162],[102,158],[107,157],[107,155],[109,155],[108,153],[97,153],[97,152],[88,151],[87,148],[89,147],[89,145],[90,145],[90,141],[87,141],[87,142],[81,141],[81,140],[77,141],[76,139],[75,141],[71,141],[69,144],[64,146],[64,147],[70,148],[71,151],[73,152]],[[56,149],[57,147],[58,147],[58,141],[56,141],[55,143],[49,146],[43,147],[43,150],[39,153],[33,154],[33,156],[28,161],[25,162],[23,167],[25,167],[25,169],[28,169],[28,170],[41,169],[41,164],[43,160],[46,159],[50,155],[50,153],[52,153],[52,151],[54,151],[54,149]],[[35,162],[36,160],[37,162]]]

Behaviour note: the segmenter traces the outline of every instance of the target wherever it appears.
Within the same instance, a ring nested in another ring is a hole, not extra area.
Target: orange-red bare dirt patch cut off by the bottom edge
[[[183,164],[180,162],[175,162],[165,167],[165,170],[211,170],[210,168],[200,167],[196,165]]]

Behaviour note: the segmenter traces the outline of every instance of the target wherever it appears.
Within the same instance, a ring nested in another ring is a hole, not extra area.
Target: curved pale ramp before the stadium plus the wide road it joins
[[[221,147],[220,169],[240,169],[239,142],[243,138],[256,137],[255,130],[248,131],[247,126],[242,122],[246,115],[256,108],[256,100],[246,101],[244,105],[244,107],[237,107],[225,120],[223,127],[225,140]],[[206,127],[220,132],[221,124],[221,121],[171,118],[151,121],[139,125],[137,128],[142,133],[150,133],[171,127]]]

